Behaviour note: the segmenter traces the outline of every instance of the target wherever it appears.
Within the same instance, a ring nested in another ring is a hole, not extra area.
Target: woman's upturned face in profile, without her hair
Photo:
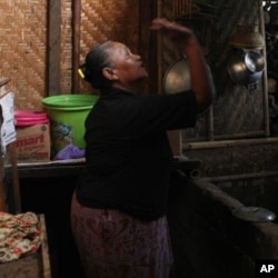
[[[141,57],[131,53],[130,49],[120,42],[113,42],[109,49],[112,70],[115,73],[113,85],[129,88],[133,83],[148,77],[142,66]]]

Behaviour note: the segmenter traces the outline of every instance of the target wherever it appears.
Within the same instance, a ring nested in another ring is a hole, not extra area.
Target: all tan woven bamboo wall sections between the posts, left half
[[[80,62],[95,44],[120,40],[138,51],[139,0],[81,0]],[[72,1],[61,0],[60,93],[72,86]],[[42,110],[48,96],[47,0],[0,2],[0,76],[10,79],[8,89],[16,93],[16,109]],[[80,80],[82,92],[91,91]]]

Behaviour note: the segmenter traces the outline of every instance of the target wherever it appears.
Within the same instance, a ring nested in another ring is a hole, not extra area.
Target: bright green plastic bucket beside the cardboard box
[[[52,156],[69,143],[85,148],[85,121],[98,98],[96,95],[59,95],[42,99],[50,120]]]

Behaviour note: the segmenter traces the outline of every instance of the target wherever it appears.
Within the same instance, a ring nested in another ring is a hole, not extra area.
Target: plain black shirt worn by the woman
[[[79,202],[146,220],[163,216],[172,159],[166,131],[193,127],[196,117],[192,91],[102,91],[86,120],[87,167],[77,187]]]

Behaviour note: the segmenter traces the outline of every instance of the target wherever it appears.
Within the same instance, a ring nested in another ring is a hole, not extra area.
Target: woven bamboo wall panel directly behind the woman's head
[[[80,61],[96,44],[118,40],[138,51],[139,1],[83,0],[80,26]],[[80,80],[80,91],[92,91]]]

